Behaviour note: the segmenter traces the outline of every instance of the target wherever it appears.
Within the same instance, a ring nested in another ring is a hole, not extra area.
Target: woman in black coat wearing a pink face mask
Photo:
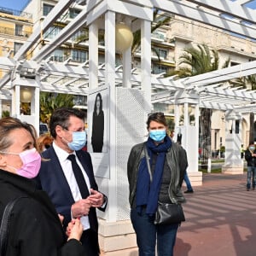
[[[40,166],[32,125],[11,117],[0,119],[0,221],[8,203],[19,198],[10,214],[4,255],[86,255],[79,242],[83,232],[79,219],[68,225],[65,234],[48,195],[36,189],[32,178]]]

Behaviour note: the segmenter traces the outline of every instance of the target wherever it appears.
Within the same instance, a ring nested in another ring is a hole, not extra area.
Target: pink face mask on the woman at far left
[[[4,154],[15,154],[15,153],[4,153]],[[36,148],[28,149],[20,154],[23,166],[16,169],[17,174],[27,178],[37,177],[41,167],[41,155],[38,153]],[[13,166],[11,166],[13,167]],[[14,168],[14,167],[13,167]]]

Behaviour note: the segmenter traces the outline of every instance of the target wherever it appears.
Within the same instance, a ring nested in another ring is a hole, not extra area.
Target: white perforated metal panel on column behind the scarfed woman
[[[130,218],[127,160],[131,147],[147,137],[146,120],[150,112],[142,90],[117,88],[117,219]]]

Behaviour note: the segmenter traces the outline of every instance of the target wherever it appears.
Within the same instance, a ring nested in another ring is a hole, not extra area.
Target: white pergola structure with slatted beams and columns
[[[11,99],[12,115],[24,119],[25,117],[20,114],[20,87],[31,87],[32,115],[27,121],[36,126],[39,122],[39,91],[86,95],[89,99],[97,91],[106,91],[107,151],[100,155],[92,153],[99,187],[110,198],[108,211],[104,214],[99,213],[102,218],[100,241],[106,255],[118,250],[122,250],[122,255],[128,255],[131,253],[131,247],[136,247],[135,236],[129,222],[126,161],[131,146],[144,140],[145,121],[153,102],[167,102],[176,106],[183,104],[183,147],[188,151],[189,172],[194,173],[196,183],[201,183],[196,150],[199,108],[223,110],[226,112],[226,119],[232,120],[233,124],[241,119],[241,113],[253,112],[256,109],[256,94],[253,91],[230,89],[225,84],[227,80],[255,74],[255,61],[187,79],[176,80],[151,75],[149,53],[153,9],[161,9],[166,13],[181,15],[254,39],[256,11],[244,7],[248,2],[251,1],[90,0],[84,5],[82,12],[52,39],[50,44],[44,45],[33,55],[32,60],[26,61],[24,55],[38,42],[41,30],[45,32],[65,9],[74,4],[73,0],[60,0],[13,59],[0,58],[0,68],[6,72],[0,80],[0,99]],[[140,71],[131,69],[131,49],[123,53],[122,67],[115,67],[113,38],[115,24],[120,20],[125,21],[132,31],[138,28],[142,30]],[[89,61],[79,66],[73,66],[69,61],[50,61],[49,56],[54,49],[67,41],[82,26],[89,26]],[[97,54],[100,27],[105,29],[103,65],[98,64]],[[35,79],[22,78],[29,74]],[[193,127],[189,126],[189,104],[195,106]],[[178,108],[175,114],[178,119]],[[91,119],[89,127],[90,122]],[[235,125],[232,129],[235,129]],[[225,166],[228,172],[241,171],[240,134],[233,130],[226,138]]]

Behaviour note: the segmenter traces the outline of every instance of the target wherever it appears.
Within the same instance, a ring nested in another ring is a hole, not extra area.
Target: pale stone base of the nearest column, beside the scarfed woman
[[[101,256],[137,256],[136,235],[130,220],[107,222],[99,219]]]

